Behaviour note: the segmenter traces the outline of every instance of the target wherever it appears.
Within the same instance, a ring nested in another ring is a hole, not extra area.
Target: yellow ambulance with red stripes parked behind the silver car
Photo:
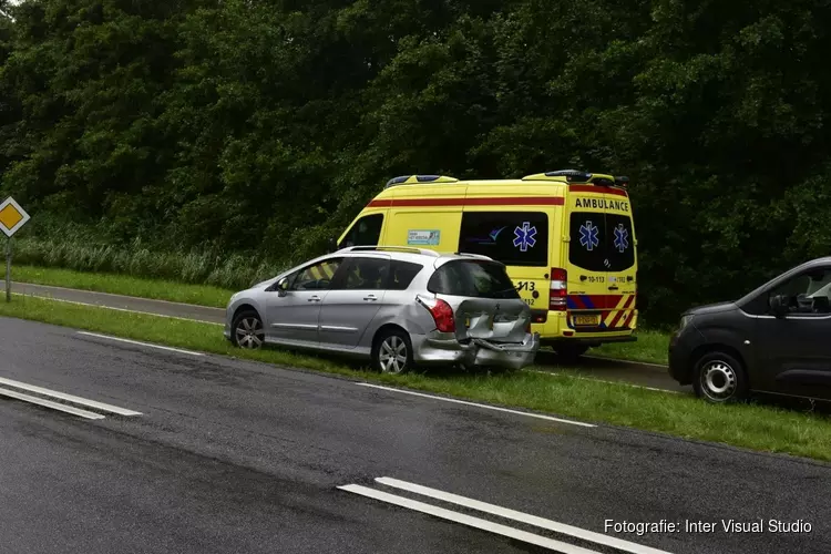
[[[337,242],[413,246],[502,261],[543,345],[576,358],[633,341],[637,240],[627,177],[564,170],[521,179],[390,179]]]

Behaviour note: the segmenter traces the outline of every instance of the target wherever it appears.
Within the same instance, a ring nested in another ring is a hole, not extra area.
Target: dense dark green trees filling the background
[[[633,179],[652,321],[831,253],[827,0],[0,11],[2,192],[39,239],[280,265],[390,176],[575,166]]]

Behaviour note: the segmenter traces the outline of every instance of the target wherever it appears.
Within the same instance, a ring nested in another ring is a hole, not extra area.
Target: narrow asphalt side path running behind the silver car
[[[13,283],[14,293],[52,298],[64,301],[90,304],[94,306],[106,306],[131,311],[142,311],[167,317],[195,319],[209,324],[224,325],[225,310],[219,308],[207,308],[191,304],[168,302],[164,300],[151,300],[131,296],[110,295],[105,293],[93,293],[63,287],[51,287],[45,285],[31,285]],[[541,350],[536,362],[548,371],[557,371],[560,362],[557,356],[547,349]],[[640,387],[650,387],[661,390],[677,392],[691,392],[691,387],[681,387],[669,377],[666,368],[637,362],[623,362],[619,360],[607,360],[594,357],[584,357],[576,363],[570,363],[568,369],[576,369],[586,377],[609,381],[623,381]]]

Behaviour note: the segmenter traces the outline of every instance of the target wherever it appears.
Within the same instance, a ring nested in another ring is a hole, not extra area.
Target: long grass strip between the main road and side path
[[[568,373],[470,375],[430,372],[383,376],[342,361],[267,349],[233,348],[217,326],[66,305],[14,296],[0,302],[0,316],[70,326],[113,336],[338,373],[353,379],[450,394],[469,400],[526,408],[582,421],[606,422],[687,439],[720,442],[757,451],[782,452],[831,461],[831,419],[767,406],[710,406],[695,398],[636,389]],[[568,432],[541,424],[541,432]]]

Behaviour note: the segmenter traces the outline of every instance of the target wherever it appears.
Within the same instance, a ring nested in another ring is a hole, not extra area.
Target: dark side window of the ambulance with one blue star
[[[506,266],[548,266],[548,216],[543,212],[465,212],[459,252]]]

